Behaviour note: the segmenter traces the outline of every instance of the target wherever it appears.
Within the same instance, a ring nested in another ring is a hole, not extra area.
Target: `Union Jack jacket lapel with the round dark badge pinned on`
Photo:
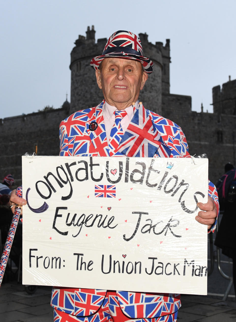
[[[93,112],[91,115],[88,115],[88,120],[86,122],[86,131],[92,141],[92,144],[98,156],[109,156],[106,130],[105,130],[105,124],[104,124],[104,119],[102,114],[102,107],[103,107],[104,101],[105,100],[103,100],[101,104],[99,104],[95,108],[95,112]],[[92,122],[97,123],[97,128],[94,131],[90,130],[89,128]]]

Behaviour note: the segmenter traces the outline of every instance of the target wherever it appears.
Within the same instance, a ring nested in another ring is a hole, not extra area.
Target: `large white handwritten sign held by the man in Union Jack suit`
[[[23,156],[23,284],[207,294],[208,160]]]

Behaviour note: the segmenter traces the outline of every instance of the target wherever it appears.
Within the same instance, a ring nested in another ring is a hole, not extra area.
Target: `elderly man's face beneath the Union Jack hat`
[[[148,75],[138,61],[111,57],[103,60],[96,77],[106,102],[121,110],[136,102]]]

